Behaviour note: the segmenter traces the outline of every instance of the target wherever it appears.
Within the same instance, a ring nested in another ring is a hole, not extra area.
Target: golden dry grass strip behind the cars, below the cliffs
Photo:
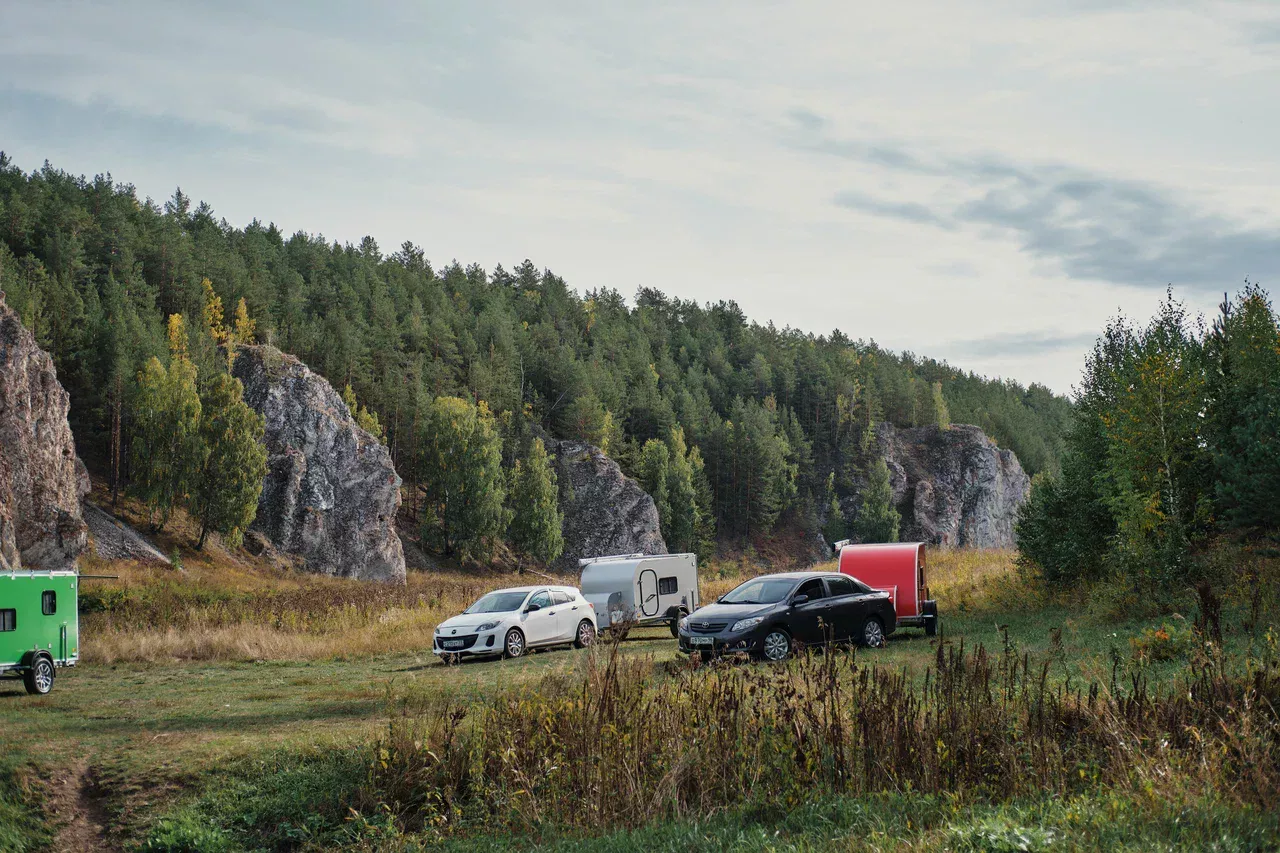
[[[950,607],[1007,605],[1019,590],[1007,551],[938,551],[929,583]],[[815,569],[835,570],[829,562]],[[410,573],[404,587],[370,584],[273,567],[219,551],[183,557],[183,569],[86,561],[82,592],[84,660],[315,660],[430,648],[435,626],[484,593],[538,583],[531,574]],[[701,599],[716,601],[763,570],[723,565],[701,573]],[[559,583],[576,584],[575,578]]]

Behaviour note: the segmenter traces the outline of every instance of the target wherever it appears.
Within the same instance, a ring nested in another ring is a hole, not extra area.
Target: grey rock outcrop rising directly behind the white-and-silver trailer
[[[554,442],[556,475],[564,511],[564,553],[557,567],[577,571],[580,557],[667,553],[658,507],[618,464],[584,442]]]

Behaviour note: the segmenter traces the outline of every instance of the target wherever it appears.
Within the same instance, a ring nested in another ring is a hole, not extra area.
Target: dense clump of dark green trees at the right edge
[[[1117,318],[1089,356],[1061,473],[1018,521],[1052,584],[1116,579],[1167,598],[1203,574],[1211,537],[1280,532],[1280,318],[1247,283],[1211,323],[1170,292],[1146,324]]]

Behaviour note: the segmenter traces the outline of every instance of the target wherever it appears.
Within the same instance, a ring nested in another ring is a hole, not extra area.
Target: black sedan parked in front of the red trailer
[[[895,624],[888,593],[849,575],[760,575],[680,620],[680,651],[781,661],[796,643],[883,646]]]

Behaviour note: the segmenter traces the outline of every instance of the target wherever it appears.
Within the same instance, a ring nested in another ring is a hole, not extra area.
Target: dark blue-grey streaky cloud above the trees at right
[[[837,206],[948,231],[978,228],[1071,278],[1203,292],[1242,278],[1280,278],[1280,227],[1244,224],[1156,183],[991,155],[923,155],[881,140],[801,147],[933,181],[928,205],[846,190],[836,193]]]

